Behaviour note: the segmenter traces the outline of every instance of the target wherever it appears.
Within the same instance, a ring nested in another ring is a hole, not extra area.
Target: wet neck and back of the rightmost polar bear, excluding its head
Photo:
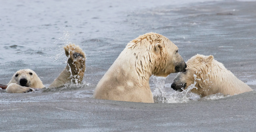
[[[196,80],[197,92],[203,97],[216,93],[234,95],[251,90],[247,84],[227,70],[222,63],[215,60],[210,67],[205,68],[204,72],[197,73],[197,77],[201,79]]]

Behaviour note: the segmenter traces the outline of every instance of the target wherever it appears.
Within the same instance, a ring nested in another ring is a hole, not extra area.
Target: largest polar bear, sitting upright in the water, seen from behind
[[[146,33],[127,44],[100,79],[93,98],[154,103],[149,77],[167,77],[186,67],[175,44],[158,33]]]

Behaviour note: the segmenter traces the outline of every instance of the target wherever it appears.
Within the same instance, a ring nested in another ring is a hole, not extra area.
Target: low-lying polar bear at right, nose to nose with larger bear
[[[240,94],[252,91],[252,89],[235,77],[224,65],[213,59],[213,56],[195,55],[187,61],[188,68],[178,73],[172,82],[172,89],[183,91],[196,81],[196,88],[192,89],[201,97],[222,93]],[[194,75],[196,75],[196,80]]]

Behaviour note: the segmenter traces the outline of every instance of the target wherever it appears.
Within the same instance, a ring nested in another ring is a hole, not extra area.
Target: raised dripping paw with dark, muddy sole
[[[75,44],[69,44],[64,47],[65,54],[68,57],[67,70],[71,72],[71,80],[74,83],[80,83],[84,77],[86,69],[86,55],[83,50]]]

